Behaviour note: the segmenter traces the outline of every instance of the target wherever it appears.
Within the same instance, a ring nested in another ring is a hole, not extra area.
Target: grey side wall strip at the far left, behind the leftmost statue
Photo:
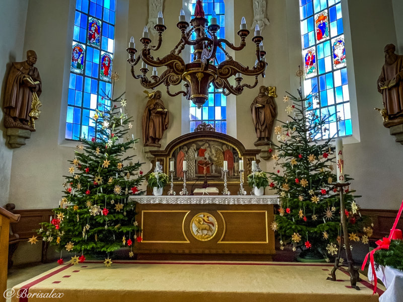
[[[2,2],[3,12],[13,12],[13,14],[3,13],[0,18],[0,104],[4,102],[4,92],[6,90],[7,73],[13,61],[23,61],[26,59],[23,53],[25,22],[27,18],[28,0],[14,1],[6,0]],[[3,107],[3,106],[1,106]],[[0,121],[3,120],[3,110],[0,110]],[[0,206],[9,202],[9,188],[11,177],[11,164],[13,150],[6,145],[7,136],[3,122],[0,123]]]

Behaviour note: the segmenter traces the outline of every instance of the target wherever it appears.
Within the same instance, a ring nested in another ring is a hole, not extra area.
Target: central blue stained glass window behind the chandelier
[[[192,1],[191,12],[194,12],[196,0]],[[218,38],[225,38],[225,6],[224,0],[204,0],[203,9],[205,16],[209,20],[212,18],[213,12],[217,15],[217,23],[220,25],[220,30],[217,32]],[[192,39],[196,38],[195,33],[191,36]],[[225,45],[224,45],[225,48]],[[190,58],[193,60],[193,47],[190,50]],[[218,65],[225,60],[225,53],[222,49],[217,50],[217,61],[214,62]],[[192,102],[190,102],[190,132],[193,132],[197,125],[206,122],[211,124],[216,131],[227,133],[227,99],[222,94],[222,90],[215,89],[213,85],[209,88],[209,99],[206,103],[198,109]]]

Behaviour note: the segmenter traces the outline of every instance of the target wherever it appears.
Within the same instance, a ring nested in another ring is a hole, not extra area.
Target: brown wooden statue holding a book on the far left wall
[[[27,51],[27,60],[13,62],[6,82],[4,97],[4,126],[35,131],[35,119],[39,117],[38,108],[42,105],[39,96],[42,80],[34,64],[35,51]]]

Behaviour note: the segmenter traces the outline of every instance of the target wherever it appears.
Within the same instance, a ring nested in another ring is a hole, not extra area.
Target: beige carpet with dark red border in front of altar
[[[366,276],[349,288],[350,278],[332,265],[287,262],[115,261],[61,265],[14,286],[13,302],[24,301],[378,301]],[[25,289],[24,289],[25,288]],[[53,290],[53,292],[52,292]],[[384,287],[380,286],[379,293]],[[18,298],[18,291],[23,297]],[[27,293],[31,297],[26,297]],[[52,293],[61,298],[38,298]]]

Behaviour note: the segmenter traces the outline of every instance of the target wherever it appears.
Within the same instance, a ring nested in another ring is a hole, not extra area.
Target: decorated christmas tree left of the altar
[[[136,148],[137,139],[128,134],[132,121],[122,113],[125,105],[123,95],[102,98],[92,117],[96,137],[80,138],[69,175],[64,176],[64,196],[53,209],[55,216],[38,230],[57,250],[75,252],[73,264],[83,262],[86,254],[102,252],[110,266],[109,253],[128,246],[132,257],[134,242],[141,242],[135,204],[128,197],[144,193],[139,190],[144,176],[142,164],[126,155],[126,150]],[[61,255],[58,262],[63,263]]]

